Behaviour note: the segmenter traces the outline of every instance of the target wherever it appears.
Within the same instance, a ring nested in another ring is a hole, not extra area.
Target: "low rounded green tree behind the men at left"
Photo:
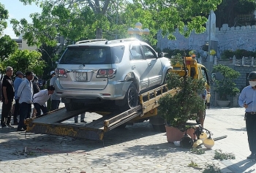
[[[42,54],[36,50],[17,50],[2,64],[3,66],[12,66],[15,72],[31,71],[37,76],[41,76],[45,67],[45,61],[42,61],[41,56]]]

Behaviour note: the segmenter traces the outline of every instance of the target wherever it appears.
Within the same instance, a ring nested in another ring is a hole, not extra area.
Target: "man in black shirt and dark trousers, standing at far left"
[[[13,69],[11,66],[7,66],[6,74],[1,82],[1,92],[2,95],[2,108],[1,108],[1,128],[14,128],[10,125],[11,115],[12,115],[12,104],[15,95],[12,74]]]

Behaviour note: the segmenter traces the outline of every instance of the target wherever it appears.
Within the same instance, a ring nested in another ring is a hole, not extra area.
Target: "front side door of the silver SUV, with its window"
[[[162,81],[161,59],[157,58],[155,51],[147,45],[142,45],[142,50],[148,63],[148,87],[159,85]]]

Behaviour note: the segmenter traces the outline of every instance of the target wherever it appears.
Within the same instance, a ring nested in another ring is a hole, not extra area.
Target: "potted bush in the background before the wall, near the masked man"
[[[236,96],[236,94],[240,92],[236,87],[236,83],[233,82],[240,76],[240,73],[222,64],[213,67],[213,74],[215,74],[215,76],[216,73],[222,74],[222,77],[214,80],[214,91],[219,95],[217,104],[219,104],[220,107],[227,107],[227,105],[230,104],[227,96]]]

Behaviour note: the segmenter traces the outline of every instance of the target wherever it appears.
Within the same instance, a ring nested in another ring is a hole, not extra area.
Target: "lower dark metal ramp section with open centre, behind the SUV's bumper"
[[[61,123],[83,112],[97,111],[79,109],[67,112],[65,108],[57,109],[37,118],[25,120],[27,125],[26,132],[102,140],[105,132],[142,115],[142,106],[139,105],[125,112],[111,112],[108,115],[104,115],[102,118],[84,125]]]

